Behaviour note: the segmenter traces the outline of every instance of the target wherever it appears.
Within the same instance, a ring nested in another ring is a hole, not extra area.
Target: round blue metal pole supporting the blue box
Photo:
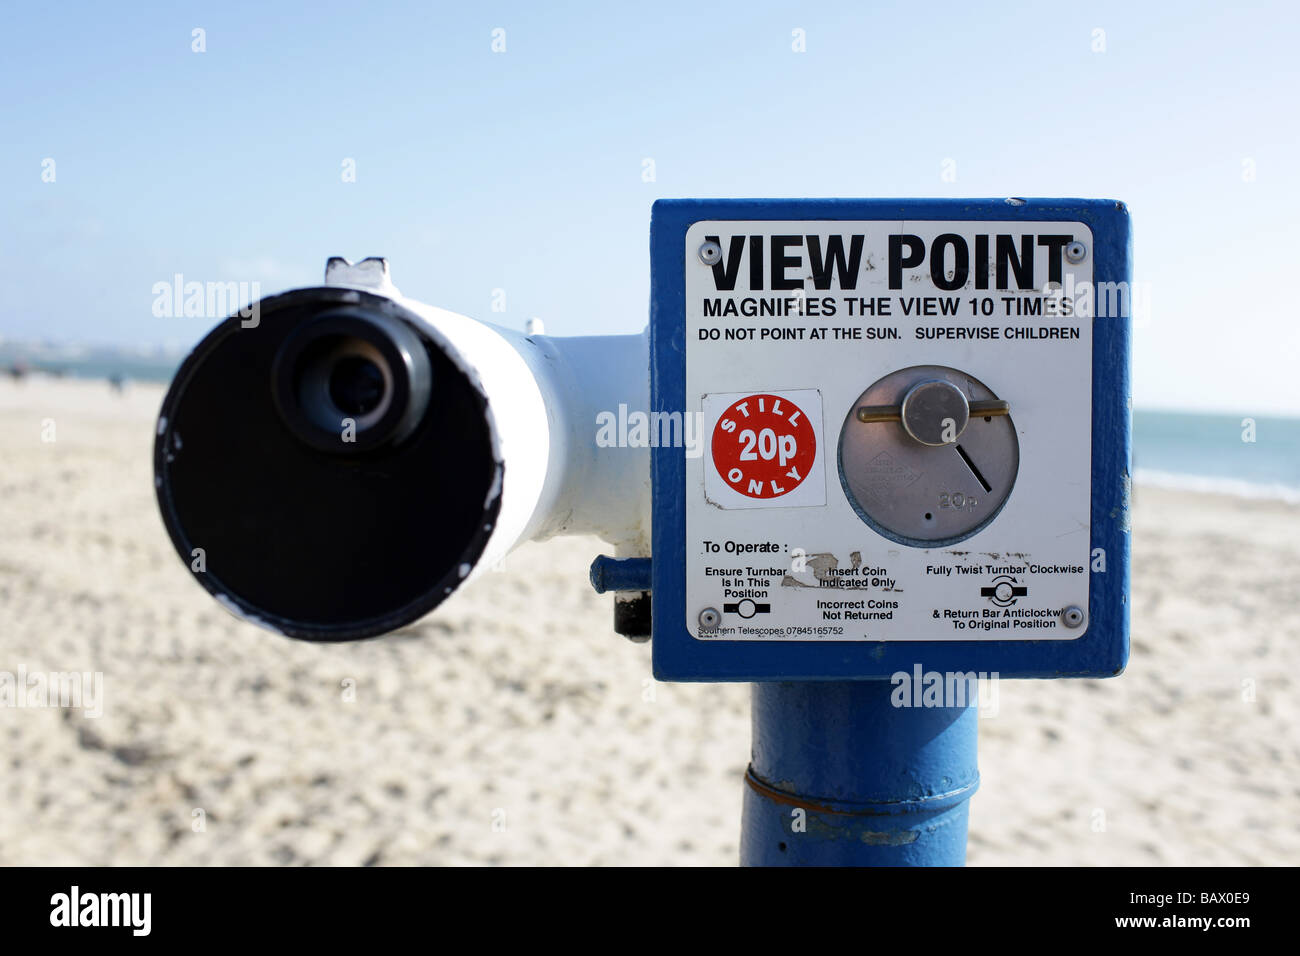
[[[976,767],[962,706],[894,706],[889,680],[754,684],[745,866],[961,866]]]

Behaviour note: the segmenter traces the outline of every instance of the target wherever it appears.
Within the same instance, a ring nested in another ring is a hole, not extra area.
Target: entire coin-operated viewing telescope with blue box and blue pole
[[[380,260],[228,320],[159,421],[178,551],[343,640],[595,533],[655,676],[754,683],[744,862],[962,862],[978,688],[1128,657],[1127,209],[662,200],[650,247],[649,336],[495,329]]]

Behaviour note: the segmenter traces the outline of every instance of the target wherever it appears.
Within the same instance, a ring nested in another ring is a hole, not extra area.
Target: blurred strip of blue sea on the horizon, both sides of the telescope
[[[124,376],[166,382],[179,352],[31,349],[0,345],[0,368],[22,358],[34,371],[77,378]],[[9,359],[9,360],[6,360]],[[1300,503],[1300,418],[1184,411],[1134,411],[1134,480],[1196,492]]]

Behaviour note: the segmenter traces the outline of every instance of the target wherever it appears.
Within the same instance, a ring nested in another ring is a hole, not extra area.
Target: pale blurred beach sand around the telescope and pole
[[[601,542],[390,637],[277,637],[166,540],[161,394],[0,382],[0,671],[103,672],[101,717],[0,708],[0,864],[736,861],[749,688],[653,682]],[[1128,670],[1000,683],[972,865],[1300,862],[1300,509],[1141,486],[1134,529]]]

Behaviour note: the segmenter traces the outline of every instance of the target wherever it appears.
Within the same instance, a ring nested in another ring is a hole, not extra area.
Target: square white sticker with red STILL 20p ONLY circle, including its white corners
[[[724,509],[826,503],[816,389],[708,394],[705,496]]]

